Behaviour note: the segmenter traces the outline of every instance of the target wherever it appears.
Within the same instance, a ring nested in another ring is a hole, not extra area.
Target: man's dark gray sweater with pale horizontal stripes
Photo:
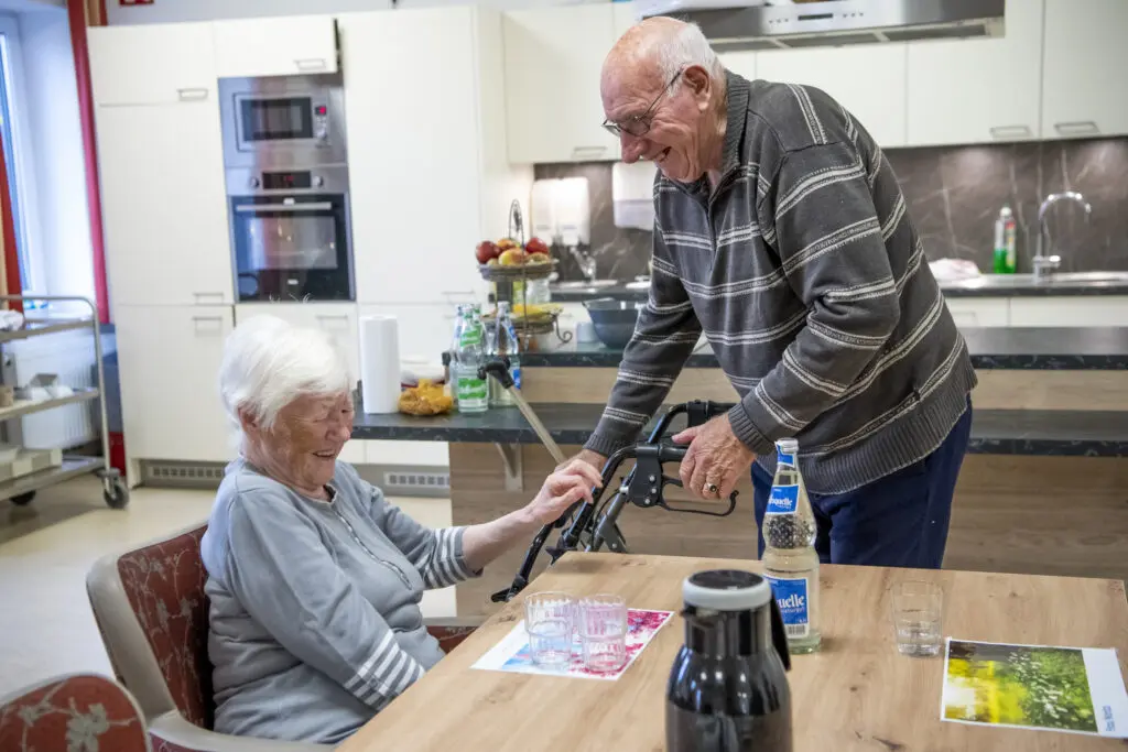
[[[905,196],[825,92],[728,73],[722,178],[654,183],[650,300],[588,448],[634,441],[704,330],[741,396],[737,436],[809,489],[845,493],[924,458],[976,386]]]

